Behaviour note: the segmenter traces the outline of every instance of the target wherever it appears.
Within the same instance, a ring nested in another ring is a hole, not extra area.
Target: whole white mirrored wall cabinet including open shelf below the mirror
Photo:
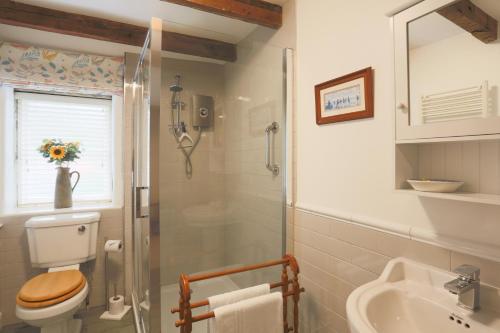
[[[397,190],[500,205],[498,20],[499,0],[424,0],[394,16]]]

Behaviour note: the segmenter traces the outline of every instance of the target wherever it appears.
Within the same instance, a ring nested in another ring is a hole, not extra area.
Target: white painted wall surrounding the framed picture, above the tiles
[[[495,243],[500,208],[393,190],[394,56],[385,13],[405,2],[297,0],[297,206]],[[375,118],[317,126],[314,85],[367,66]]]

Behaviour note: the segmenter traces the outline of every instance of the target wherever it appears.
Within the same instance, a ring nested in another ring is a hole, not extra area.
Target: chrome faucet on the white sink
[[[479,268],[462,265],[455,268],[453,272],[458,274],[458,278],[446,282],[444,284],[446,290],[458,295],[458,306],[472,311],[479,310],[479,274],[481,272]]]

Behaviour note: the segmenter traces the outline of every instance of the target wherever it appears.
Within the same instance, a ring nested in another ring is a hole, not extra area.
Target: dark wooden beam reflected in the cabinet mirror
[[[438,13],[484,43],[491,43],[498,39],[497,20],[470,0],[462,0],[441,8]]]

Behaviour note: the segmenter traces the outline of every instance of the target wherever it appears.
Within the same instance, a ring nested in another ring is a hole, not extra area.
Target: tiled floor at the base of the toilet
[[[135,333],[132,310],[121,321],[101,320],[99,316],[104,308],[94,308],[88,312],[82,312],[83,318],[82,333]],[[39,333],[40,330],[26,325],[7,326],[1,333]]]

